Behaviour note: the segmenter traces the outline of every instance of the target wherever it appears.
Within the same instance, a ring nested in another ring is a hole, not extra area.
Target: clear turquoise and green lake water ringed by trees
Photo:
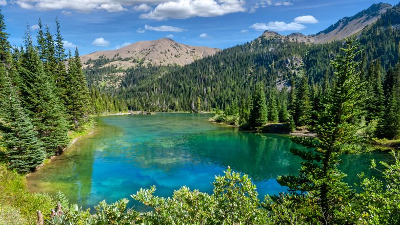
[[[207,114],[121,115],[94,118],[96,132],[81,138],[51,163],[27,177],[31,192],[55,195],[62,191],[71,203],[92,208],[130,199],[129,207],[145,210],[130,195],[156,185],[156,195],[174,190],[212,193],[216,175],[230,166],[248,174],[259,198],[284,192],[276,182],[283,174],[297,174],[298,157],[289,149],[301,147],[287,136],[240,132],[237,128],[207,121]],[[369,170],[371,159],[388,161],[387,153],[344,156],[341,169],[347,182],[359,183],[357,174],[379,176]]]

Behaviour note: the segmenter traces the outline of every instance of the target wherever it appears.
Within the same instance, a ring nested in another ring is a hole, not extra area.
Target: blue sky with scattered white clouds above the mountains
[[[399,0],[385,3],[398,4]],[[265,30],[315,34],[373,0],[0,0],[12,45],[33,41],[39,18],[64,45],[79,54],[113,50],[138,41],[169,37],[192,46],[229,48],[250,42]]]

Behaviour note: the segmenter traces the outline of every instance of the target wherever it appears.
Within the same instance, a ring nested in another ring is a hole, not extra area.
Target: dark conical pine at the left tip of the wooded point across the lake
[[[258,83],[252,97],[253,107],[250,111],[249,125],[251,129],[258,129],[268,121],[265,92],[262,84]]]

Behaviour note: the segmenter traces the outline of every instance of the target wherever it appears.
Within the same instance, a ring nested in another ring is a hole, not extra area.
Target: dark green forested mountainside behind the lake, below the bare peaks
[[[376,10],[371,12],[376,14]],[[348,37],[364,49],[355,60],[363,61],[366,77],[369,65],[377,64],[379,79],[383,81],[386,70],[398,61],[399,17],[399,6],[395,6],[361,33]],[[285,104],[290,84],[298,85],[303,74],[307,74],[311,86],[321,87],[324,74],[331,80],[333,70],[329,63],[344,46],[343,41],[297,43],[290,40],[289,35],[266,33],[268,35],[252,42],[224,49],[182,67],[141,66],[125,70],[107,66],[109,60],[105,58],[93,60],[93,66],[85,68],[84,72],[94,111],[112,111],[110,107],[116,110],[116,105],[151,111],[225,108],[251,95],[257,82],[268,87],[267,99],[271,90],[279,90],[276,96]]]

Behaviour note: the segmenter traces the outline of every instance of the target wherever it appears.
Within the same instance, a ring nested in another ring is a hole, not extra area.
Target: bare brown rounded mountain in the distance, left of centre
[[[218,48],[184,45],[172,39],[140,41],[116,50],[96,51],[81,55],[84,67],[91,67],[97,59],[108,59],[105,66],[127,69],[134,65],[186,65],[221,51]]]

